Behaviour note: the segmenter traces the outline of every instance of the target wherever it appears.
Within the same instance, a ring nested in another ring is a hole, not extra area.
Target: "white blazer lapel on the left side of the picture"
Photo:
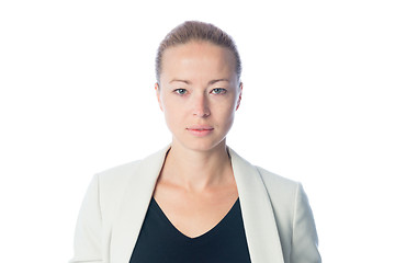
[[[129,262],[169,147],[142,160],[125,185],[111,239],[111,263]]]

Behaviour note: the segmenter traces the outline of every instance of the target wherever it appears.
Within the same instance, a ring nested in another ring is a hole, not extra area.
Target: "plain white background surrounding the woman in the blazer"
[[[97,172],[161,149],[154,58],[184,20],[228,32],[228,145],[301,181],[325,262],[391,262],[393,1],[1,1],[1,262],[66,262]]]

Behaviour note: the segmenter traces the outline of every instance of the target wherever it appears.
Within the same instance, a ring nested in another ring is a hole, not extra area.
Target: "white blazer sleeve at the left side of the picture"
[[[102,263],[102,216],[99,175],[91,181],[79,211],[69,263]]]

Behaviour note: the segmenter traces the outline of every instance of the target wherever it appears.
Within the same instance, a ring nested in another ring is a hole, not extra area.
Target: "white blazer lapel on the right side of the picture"
[[[229,149],[252,263],[284,263],[273,207],[257,168]]]

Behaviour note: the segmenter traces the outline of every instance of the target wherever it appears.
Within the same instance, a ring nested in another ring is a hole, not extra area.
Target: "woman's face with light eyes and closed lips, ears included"
[[[190,42],[166,49],[156,91],[173,145],[207,151],[225,144],[241,89],[227,48]]]

